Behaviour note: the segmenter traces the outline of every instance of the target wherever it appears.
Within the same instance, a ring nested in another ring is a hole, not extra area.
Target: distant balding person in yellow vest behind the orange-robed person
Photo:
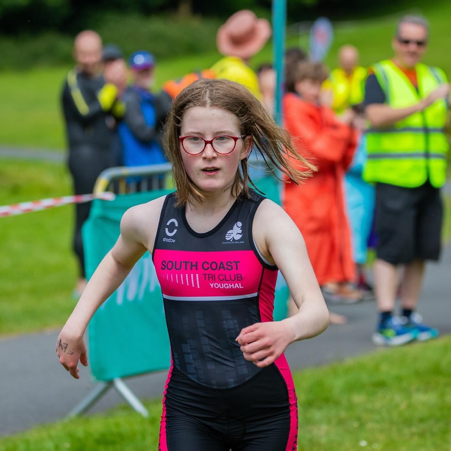
[[[359,65],[359,51],[351,45],[340,48],[338,61],[340,66],[331,71],[323,88],[331,90],[332,110],[341,115],[363,102],[367,69]]]

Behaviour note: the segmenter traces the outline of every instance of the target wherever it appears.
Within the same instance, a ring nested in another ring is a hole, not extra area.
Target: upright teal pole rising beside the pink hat
[[[272,28],[274,37],[272,51],[276,70],[276,92],[274,99],[274,120],[282,123],[282,96],[284,93],[284,53],[285,53],[286,0],[272,1]]]

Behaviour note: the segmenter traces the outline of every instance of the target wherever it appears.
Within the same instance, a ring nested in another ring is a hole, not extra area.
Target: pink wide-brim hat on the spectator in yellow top
[[[231,15],[216,34],[219,53],[247,60],[257,54],[271,37],[271,24],[249,9]]]

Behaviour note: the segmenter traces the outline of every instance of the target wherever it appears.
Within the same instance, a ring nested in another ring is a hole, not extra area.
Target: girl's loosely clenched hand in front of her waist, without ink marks
[[[295,333],[291,324],[284,321],[258,322],[244,327],[236,341],[241,345],[244,359],[253,362],[258,368],[264,368],[271,365],[295,341]]]

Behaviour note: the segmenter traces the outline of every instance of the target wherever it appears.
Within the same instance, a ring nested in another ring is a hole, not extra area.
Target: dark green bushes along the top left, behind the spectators
[[[99,32],[105,43],[118,44],[126,57],[145,49],[157,59],[214,51],[220,25],[219,19],[179,15],[102,13],[87,19],[87,28]],[[0,70],[72,64],[73,38],[59,32],[0,35]]]

